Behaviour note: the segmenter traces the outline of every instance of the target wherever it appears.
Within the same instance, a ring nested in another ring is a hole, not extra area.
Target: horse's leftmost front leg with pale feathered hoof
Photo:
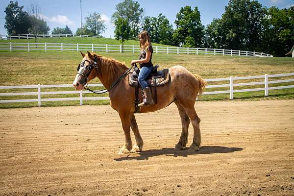
[[[120,149],[119,154],[127,154],[130,153],[132,149],[132,140],[131,140],[131,135],[130,135],[130,119],[129,113],[126,112],[119,112],[122,125],[123,125],[123,131],[124,131],[124,137],[125,137],[125,142],[123,147]]]

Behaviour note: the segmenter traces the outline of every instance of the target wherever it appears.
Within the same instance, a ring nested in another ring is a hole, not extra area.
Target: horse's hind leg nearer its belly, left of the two
[[[176,104],[179,110],[179,114],[182,121],[182,133],[179,142],[175,145],[175,149],[183,150],[188,143],[188,128],[191,121],[183,106],[178,101],[175,101],[174,103]]]

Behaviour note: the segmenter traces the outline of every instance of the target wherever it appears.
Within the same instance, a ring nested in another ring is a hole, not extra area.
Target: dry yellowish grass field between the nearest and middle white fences
[[[90,38],[89,38],[90,39]],[[97,38],[94,38],[97,39]],[[139,53],[99,53],[101,55],[115,58],[121,62],[125,62],[129,67],[132,59],[137,59]],[[0,52],[0,86],[8,85],[33,85],[33,84],[71,84],[76,74],[76,67],[81,60],[78,52]],[[293,58],[259,58],[259,57],[239,57],[239,56],[219,56],[219,55],[176,55],[176,54],[153,54],[152,62],[159,64],[160,69],[170,68],[174,65],[182,65],[190,72],[199,74],[203,79],[222,78],[229,76],[252,76],[275,73],[294,73]],[[283,77],[279,79],[286,79]],[[291,77],[290,77],[291,78]],[[292,77],[293,78],[293,77]],[[254,80],[254,81],[262,81]],[[252,81],[252,80],[251,80]],[[98,83],[98,79],[93,83]],[[249,82],[238,81],[238,82]],[[211,84],[222,84],[221,82],[210,82]],[[277,85],[294,85],[294,83],[280,83]],[[242,88],[259,88],[263,85],[254,85]],[[47,91],[52,89],[43,89]],[[73,88],[56,89],[74,90]],[[207,89],[206,91],[228,90],[228,88]],[[32,90],[14,89],[1,90],[5,92],[27,92]],[[77,95],[48,95],[42,98],[57,97],[77,97]],[[85,96],[97,96],[87,94]],[[108,95],[102,95],[108,96]],[[16,97],[0,97],[0,99],[20,99],[20,98],[36,98],[36,96],[16,96]],[[270,96],[265,98],[264,91],[234,93],[235,100],[260,100],[260,99],[289,99],[294,98],[294,89],[271,90]],[[220,95],[204,95],[200,100],[227,100],[228,94]],[[109,101],[84,101],[84,104],[108,104]],[[42,105],[78,105],[78,101],[57,101],[42,102]],[[37,103],[2,103],[4,107],[24,107],[36,106]]]

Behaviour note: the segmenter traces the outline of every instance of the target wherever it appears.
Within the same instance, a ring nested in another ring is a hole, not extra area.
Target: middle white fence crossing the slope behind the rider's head
[[[65,43],[0,43],[0,50],[43,50],[45,52],[49,50],[57,51],[104,51],[104,52],[140,52],[140,47],[136,45],[110,45],[110,44],[65,44]],[[205,49],[205,48],[182,48],[182,47],[163,47],[154,46],[153,52],[155,53],[174,53],[174,54],[212,54],[212,55],[230,55],[230,56],[258,56],[258,57],[273,57],[273,55],[266,54],[263,52],[255,51],[242,51],[232,49]]]

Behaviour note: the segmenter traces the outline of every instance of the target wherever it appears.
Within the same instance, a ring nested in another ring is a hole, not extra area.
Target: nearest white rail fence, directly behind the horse
[[[205,79],[206,82],[215,82],[215,81],[229,81],[228,84],[218,84],[218,85],[207,85],[206,88],[222,88],[229,87],[227,91],[211,91],[204,92],[203,95],[213,95],[213,94],[230,94],[230,99],[234,98],[234,93],[239,92],[253,92],[253,91],[265,91],[265,96],[269,96],[270,90],[275,89],[286,89],[294,88],[294,85],[288,86],[276,86],[269,87],[269,84],[276,83],[287,83],[294,82],[294,79],[283,79],[283,80],[270,80],[272,77],[284,77],[284,76],[294,76],[294,73],[282,73],[282,74],[265,74],[265,75],[256,75],[256,76],[245,76],[245,77],[228,77],[228,78],[216,78],[216,79]],[[234,83],[235,80],[247,80],[247,79],[258,79],[264,78],[264,81],[260,82],[247,82],[247,83]],[[252,85],[264,85],[263,88],[253,88],[253,89],[242,89],[234,90],[235,86],[252,86]],[[90,87],[101,87],[102,84],[89,84]],[[12,103],[12,102],[38,102],[38,105],[41,106],[43,101],[67,101],[67,100],[79,100],[80,105],[83,104],[83,100],[105,100],[109,97],[83,97],[85,93],[91,93],[89,91],[51,91],[51,92],[42,92],[42,88],[60,88],[60,87],[73,87],[72,84],[59,84],[59,85],[27,85],[27,86],[0,86],[0,89],[37,89],[37,92],[25,92],[25,93],[0,93],[1,96],[27,96],[27,95],[37,95],[36,99],[11,99],[11,100],[0,100],[0,103]],[[57,95],[57,94],[79,94],[79,97],[75,98],[41,98],[42,95]]]

